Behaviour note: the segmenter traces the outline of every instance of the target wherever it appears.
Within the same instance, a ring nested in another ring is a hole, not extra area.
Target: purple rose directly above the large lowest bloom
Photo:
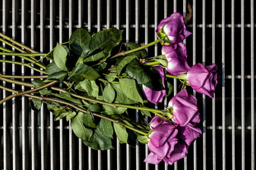
[[[172,97],[168,107],[172,107],[175,124],[184,126],[187,124],[196,124],[200,122],[199,111],[197,108],[196,97],[188,94],[186,89],[181,90],[176,96]]]

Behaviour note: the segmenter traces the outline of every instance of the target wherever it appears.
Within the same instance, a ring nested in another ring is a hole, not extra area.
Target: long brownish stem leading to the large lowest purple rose
[[[10,91],[10,92],[13,92],[13,93],[19,93],[19,91],[17,90],[13,90],[13,89],[9,89],[7,87],[4,87],[2,85],[0,85],[0,89],[4,89],[4,90],[7,90],[7,91]],[[27,96],[27,97],[33,97],[33,98],[36,98],[36,99],[40,99],[41,101],[54,101],[56,103],[61,103],[61,104],[66,104],[68,106],[71,106],[72,108],[75,108],[83,113],[87,113],[86,110],[83,110],[82,108],[79,108],[78,106],[76,106],[75,104],[72,104],[72,103],[68,103],[68,102],[65,102],[65,101],[60,101],[60,100],[57,100],[57,99],[52,99],[52,98],[49,98],[49,97],[40,97],[40,96],[34,96],[34,95],[31,95],[31,94],[24,94],[24,96]],[[140,134],[143,134],[143,135],[147,135],[147,132],[143,132],[143,131],[140,131],[139,129],[136,129],[134,127],[131,127],[127,124],[124,124],[122,122],[119,122],[118,120],[114,120],[112,118],[109,118],[109,117],[105,117],[104,115],[100,115],[98,113],[92,113],[95,117],[100,117],[100,118],[104,118],[106,120],[109,120],[111,122],[114,122],[115,124],[118,124],[118,125],[122,125],[124,127],[126,127],[127,129],[131,129],[132,131],[135,131],[135,132],[138,132]]]

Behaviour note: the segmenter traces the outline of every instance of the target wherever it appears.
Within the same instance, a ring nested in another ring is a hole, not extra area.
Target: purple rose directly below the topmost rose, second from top
[[[175,45],[163,45],[162,54],[168,60],[166,70],[175,76],[179,74],[186,74],[190,67],[187,62],[187,51],[184,43]]]

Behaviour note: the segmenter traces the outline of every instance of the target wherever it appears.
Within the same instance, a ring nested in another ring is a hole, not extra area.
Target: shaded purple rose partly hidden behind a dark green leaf
[[[154,66],[154,69],[158,71],[159,75],[161,76],[163,87],[164,86],[164,71],[161,66]],[[166,96],[166,90],[152,90],[145,85],[142,85],[142,91],[144,96],[147,98],[148,101],[151,103],[161,103],[163,101],[164,96]]]

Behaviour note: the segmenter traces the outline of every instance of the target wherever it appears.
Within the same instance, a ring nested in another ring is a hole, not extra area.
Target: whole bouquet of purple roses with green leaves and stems
[[[0,41],[19,51],[0,47],[0,55],[5,56],[0,62],[29,67],[38,73],[0,74],[1,81],[29,88],[20,92],[0,85],[13,93],[1,99],[0,104],[27,96],[34,110],[40,110],[45,103],[55,120],[70,120],[74,134],[93,149],[112,149],[116,135],[120,143],[137,139],[147,144],[150,154],[145,162],[159,164],[164,160],[173,164],[186,156],[188,146],[202,133],[196,127],[200,122],[196,97],[184,87],[191,86],[196,92],[213,97],[217,66],[189,66],[182,40],[191,32],[186,30],[180,13],[164,18],[156,34],[156,41],[140,46],[124,43],[118,29],[90,34],[79,28],[67,43],[57,43],[49,53],[38,53],[0,33]],[[162,55],[147,57],[145,48],[156,43],[163,45]],[[22,62],[8,59],[10,55],[22,58]],[[45,58],[47,65],[42,62]],[[156,110],[150,103],[161,103],[172,93],[172,84],[165,77],[179,79],[182,88],[165,110]],[[24,81],[26,78],[32,83]],[[154,117],[150,123],[143,118],[135,121],[132,110]]]

